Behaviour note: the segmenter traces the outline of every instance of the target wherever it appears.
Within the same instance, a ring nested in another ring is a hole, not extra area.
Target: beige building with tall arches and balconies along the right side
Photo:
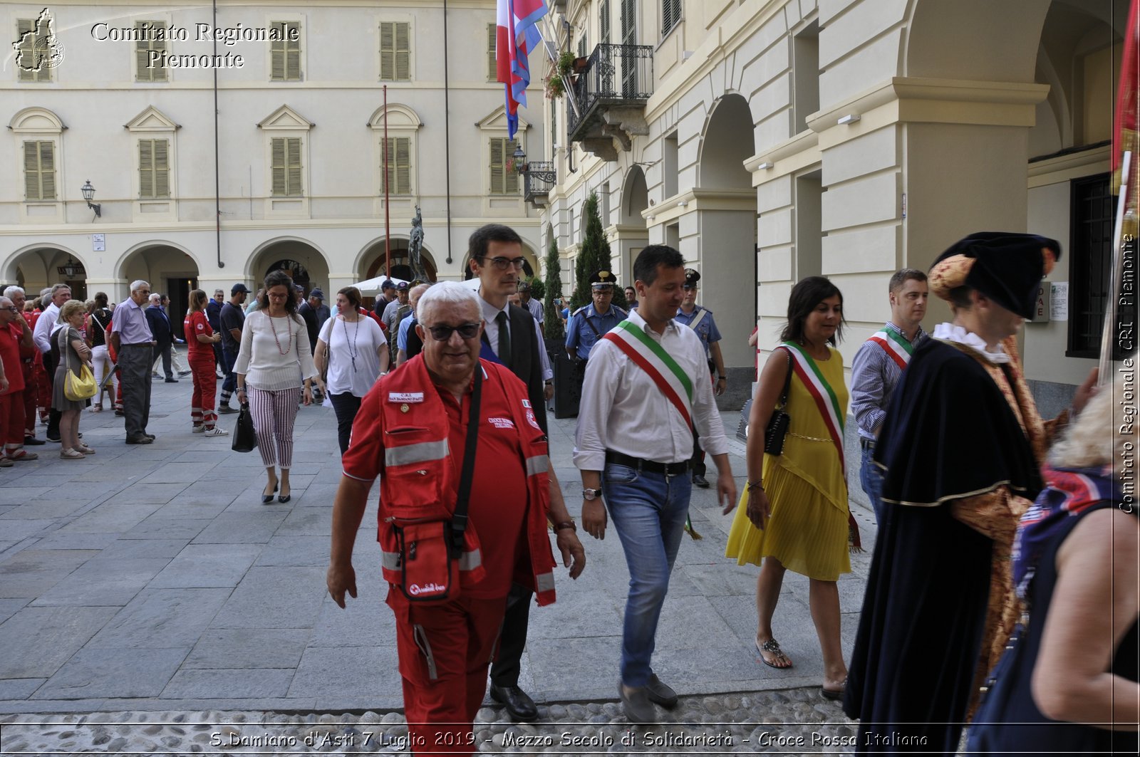
[[[581,57],[547,101],[556,178],[534,204],[571,286],[596,192],[621,284],[650,243],[701,271],[743,390],[750,332],[774,347],[805,276],[844,292],[849,360],[889,316],[893,271],[928,269],[971,231],[1028,230],[1065,247],[1047,288],[1067,315],[1021,337],[1043,412],[1096,366],[1126,0],[552,6],[560,49]],[[927,325],[947,318],[933,301]]]

